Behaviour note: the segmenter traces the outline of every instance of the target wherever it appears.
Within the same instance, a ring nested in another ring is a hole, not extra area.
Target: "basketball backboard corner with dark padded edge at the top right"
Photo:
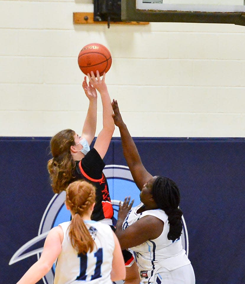
[[[123,21],[245,26],[245,0],[121,0]]]

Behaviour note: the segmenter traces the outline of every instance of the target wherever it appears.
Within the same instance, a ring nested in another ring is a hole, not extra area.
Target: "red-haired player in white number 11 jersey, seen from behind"
[[[91,220],[95,187],[74,181],[66,189],[72,220],[52,228],[40,259],[17,284],[35,284],[56,261],[54,284],[112,284],[125,279],[119,241],[109,225]]]

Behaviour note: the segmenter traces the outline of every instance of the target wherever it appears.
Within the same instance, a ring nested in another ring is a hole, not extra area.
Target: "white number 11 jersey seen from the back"
[[[78,254],[72,247],[69,222],[59,224],[64,232],[62,250],[56,262],[53,284],[111,284],[111,266],[115,247],[112,229],[109,225],[85,221],[90,235],[97,246],[92,252]]]

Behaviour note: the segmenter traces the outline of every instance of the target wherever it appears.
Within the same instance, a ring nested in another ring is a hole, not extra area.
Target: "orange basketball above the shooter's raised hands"
[[[81,71],[87,75],[91,71],[96,76],[96,70],[100,76],[111,68],[111,53],[100,43],[90,43],[82,48],[78,55],[78,65]]]

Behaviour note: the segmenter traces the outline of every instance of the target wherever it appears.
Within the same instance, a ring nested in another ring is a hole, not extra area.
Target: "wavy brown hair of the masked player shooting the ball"
[[[74,181],[73,171],[75,162],[70,148],[75,145],[72,129],[64,129],[54,135],[50,141],[52,159],[48,161],[48,172],[54,193],[66,190],[66,187]]]

